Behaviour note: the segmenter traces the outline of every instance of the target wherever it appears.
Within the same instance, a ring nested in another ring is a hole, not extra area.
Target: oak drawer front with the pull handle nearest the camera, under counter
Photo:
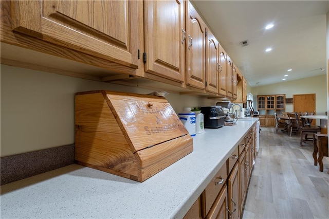
[[[221,167],[221,169],[216,173],[216,175],[211,179],[207,188],[205,189],[205,207],[206,214],[208,214],[211,206],[213,205],[217,195],[220,193],[222,187],[226,183],[227,179],[227,165]]]

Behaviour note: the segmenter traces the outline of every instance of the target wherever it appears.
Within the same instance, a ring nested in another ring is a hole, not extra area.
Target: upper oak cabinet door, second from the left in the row
[[[134,1],[131,1],[134,2]],[[144,1],[145,71],[185,82],[184,1]]]

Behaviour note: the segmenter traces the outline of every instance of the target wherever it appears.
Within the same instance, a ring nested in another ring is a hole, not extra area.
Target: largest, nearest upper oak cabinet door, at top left
[[[138,68],[136,1],[12,1],[12,28]]]

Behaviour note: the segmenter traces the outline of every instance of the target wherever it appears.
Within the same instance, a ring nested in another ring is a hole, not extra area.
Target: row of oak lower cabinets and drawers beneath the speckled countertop
[[[184,218],[240,218],[255,157],[256,132],[254,125]]]

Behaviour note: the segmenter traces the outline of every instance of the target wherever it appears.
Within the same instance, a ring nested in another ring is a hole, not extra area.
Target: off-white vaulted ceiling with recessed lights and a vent
[[[329,1],[192,1],[192,4],[250,86],[326,74]],[[268,24],[274,26],[265,29]],[[243,41],[248,45],[243,46]],[[267,48],[272,50],[266,52]]]

